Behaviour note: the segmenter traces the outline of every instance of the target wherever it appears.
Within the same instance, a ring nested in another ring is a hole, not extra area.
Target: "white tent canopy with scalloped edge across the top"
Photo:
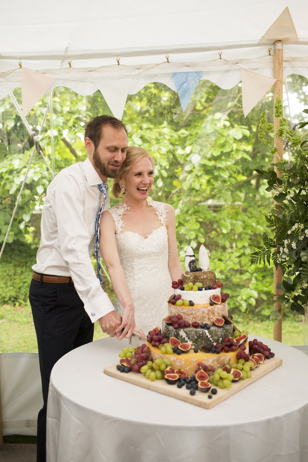
[[[197,83],[224,89],[242,80],[242,69],[272,78],[279,39],[284,78],[308,78],[306,0],[12,0],[1,18],[0,99],[22,86],[27,110],[55,86],[100,90],[121,117],[127,94],[147,83],[179,91],[174,73],[198,72]]]

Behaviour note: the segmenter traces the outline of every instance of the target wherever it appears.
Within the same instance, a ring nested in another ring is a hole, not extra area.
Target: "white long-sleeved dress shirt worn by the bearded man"
[[[101,178],[89,158],[61,170],[49,184],[41,221],[36,273],[71,276],[92,322],[114,310],[91,262]],[[103,196],[103,195],[102,195]],[[107,195],[104,210],[109,207]],[[101,237],[103,243],[103,237]]]

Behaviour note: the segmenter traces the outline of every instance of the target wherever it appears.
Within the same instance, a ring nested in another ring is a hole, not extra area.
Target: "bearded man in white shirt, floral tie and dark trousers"
[[[41,243],[32,267],[29,299],[44,401],[37,419],[39,462],[46,460],[48,385],[56,361],[91,342],[97,320],[103,332],[120,340],[129,337],[134,327],[132,319],[122,323],[115,313],[91,262],[97,215],[100,208],[109,207],[107,178],[118,175],[126,157],[125,125],[115,117],[96,117],[85,128],[85,149],[89,157],[61,170],[47,188]]]

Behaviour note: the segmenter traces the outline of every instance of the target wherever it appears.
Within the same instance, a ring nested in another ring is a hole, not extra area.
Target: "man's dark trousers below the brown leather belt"
[[[93,340],[94,324],[74,285],[31,280],[29,300],[36,330],[44,405],[37,417],[37,462],[46,461],[46,411],[50,372],[78,346]]]

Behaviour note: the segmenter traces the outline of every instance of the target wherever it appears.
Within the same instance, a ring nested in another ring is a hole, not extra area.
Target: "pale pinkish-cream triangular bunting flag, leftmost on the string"
[[[30,109],[50,90],[54,83],[52,77],[21,69],[21,100],[24,117]]]

